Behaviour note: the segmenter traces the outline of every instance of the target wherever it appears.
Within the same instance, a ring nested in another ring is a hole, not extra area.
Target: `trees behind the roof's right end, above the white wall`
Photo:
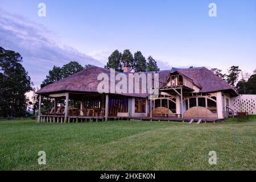
[[[221,69],[213,68],[211,71],[218,77],[226,80],[239,94],[256,94],[256,69],[253,75],[243,73],[238,66],[232,66],[228,74],[222,74]],[[240,80],[238,80],[241,77]]]

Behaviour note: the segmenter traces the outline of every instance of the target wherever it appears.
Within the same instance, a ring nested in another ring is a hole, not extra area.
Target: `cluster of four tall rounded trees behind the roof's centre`
[[[134,72],[159,71],[158,65],[152,56],[148,56],[147,60],[142,55],[141,51],[137,51],[134,55],[129,49],[119,52],[115,50],[108,58],[108,63],[105,65],[107,69],[115,69],[122,72],[123,67],[130,67]]]

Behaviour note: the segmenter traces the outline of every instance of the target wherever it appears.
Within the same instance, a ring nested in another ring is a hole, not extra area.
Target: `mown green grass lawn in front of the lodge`
[[[0,121],[1,170],[255,170],[256,116],[225,123]],[[38,164],[38,152],[47,164]],[[217,152],[210,165],[209,151]]]

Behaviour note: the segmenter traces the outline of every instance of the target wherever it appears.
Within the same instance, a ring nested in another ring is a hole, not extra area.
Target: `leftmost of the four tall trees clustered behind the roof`
[[[121,65],[121,59],[122,59],[122,53],[118,50],[115,50],[110,56],[109,61],[105,65],[106,69],[114,69],[115,71],[122,71],[122,65]]]

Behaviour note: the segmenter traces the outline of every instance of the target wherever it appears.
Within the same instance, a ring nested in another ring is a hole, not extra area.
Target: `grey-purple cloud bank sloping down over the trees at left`
[[[41,84],[53,65],[62,66],[76,60],[83,66],[103,66],[101,61],[61,44],[58,39],[42,24],[0,10],[0,46],[22,55],[22,64],[36,86]]]

